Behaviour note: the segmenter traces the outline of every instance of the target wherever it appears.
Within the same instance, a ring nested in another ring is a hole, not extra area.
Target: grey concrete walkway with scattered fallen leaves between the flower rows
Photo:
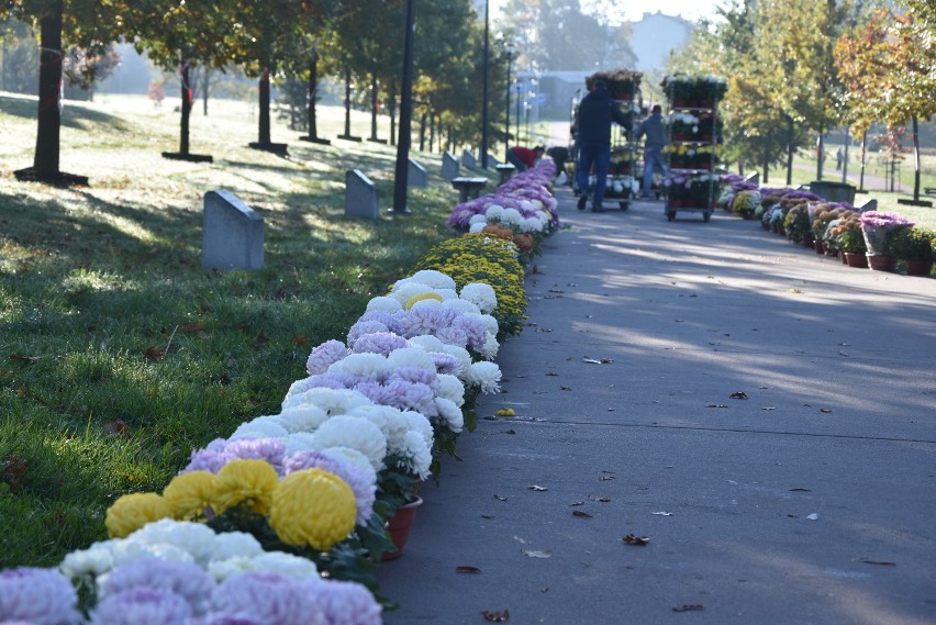
[[[558,193],[385,623],[936,623],[936,279]]]

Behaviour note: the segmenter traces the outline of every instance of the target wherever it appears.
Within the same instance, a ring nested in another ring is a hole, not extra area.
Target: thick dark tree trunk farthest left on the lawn
[[[42,19],[40,53],[38,131],[33,169],[38,176],[58,174],[59,138],[62,131],[62,10],[63,0],[55,2],[51,14]]]

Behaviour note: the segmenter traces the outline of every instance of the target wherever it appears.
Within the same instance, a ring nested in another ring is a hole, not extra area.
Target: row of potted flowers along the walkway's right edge
[[[848,202],[829,202],[805,190],[758,188],[739,176],[722,176],[718,203],[746,219],[758,219],[765,230],[838,256],[856,266],[926,275],[936,259],[936,231],[905,217],[879,211],[859,211]]]

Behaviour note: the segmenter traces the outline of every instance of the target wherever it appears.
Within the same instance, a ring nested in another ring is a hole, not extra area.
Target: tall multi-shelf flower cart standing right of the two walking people
[[[718,100],[725,94],[727,82],[715,76],[677,74],[667,76],[661,86],[669,102],[669,145],[664,150],[669,169],[664,180],[667,220],[673,221],[682,211],[701,212],[707,222],[718,198]]]

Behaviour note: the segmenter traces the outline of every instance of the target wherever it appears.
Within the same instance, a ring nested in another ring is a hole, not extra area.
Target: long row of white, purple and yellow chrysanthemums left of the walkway
[[[457,205],[463,236],[314,347],[278,414],[193,451],[161,492],[121,496],[110,539],[55,569],[0,571],[0,622],[380,623],[375,570],[399,549],[387,523],[499,389],[524,263],[559,225],[554,176],[546,159]]]

